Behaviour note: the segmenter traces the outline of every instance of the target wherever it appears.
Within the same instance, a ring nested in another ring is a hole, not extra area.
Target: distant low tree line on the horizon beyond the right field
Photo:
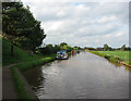
[[[98,48],[85,47],[84,49],[95,50],[95,51],[116,51],[116,50],[131,51],[131,48],[130,47],[126,47],[126,45],[123,45],[121,48],[111,48],[107,43],[105,43],[104,47],[98,47]]]

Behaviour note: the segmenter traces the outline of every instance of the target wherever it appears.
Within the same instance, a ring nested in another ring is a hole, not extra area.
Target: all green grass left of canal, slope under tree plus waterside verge
[[[26,81],[17,71],[26,71],[37,65],[45,64],[56,59],[56,54],[34,54],[14,46],[14,55],[11,55],[11,42],[2,38],[2,65],[10,65],[13,63],[20,63],[11,67],[15,90],[19,99],[32,99],[28,93]],[[19,68],[19,70],[17,70]],[[32,91],[31,91],[32,92]]]

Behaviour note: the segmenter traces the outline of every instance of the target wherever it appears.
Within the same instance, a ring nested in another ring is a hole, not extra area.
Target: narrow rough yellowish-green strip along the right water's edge
[[[123,61],[121,61],[120,58],[115,58],[112,55],[110,56],[108,54],[99,53],[97,51],[87,51],[87,52],[99,55],[99,56],[103,56],[103,58],[105,58],[105,59],[107,59],[107,60],[109,60],[111,62],[119,63],[119,64],[122,64],[124,66],[131,67],[131,65],[129,65],[129,64],[124,63]]]

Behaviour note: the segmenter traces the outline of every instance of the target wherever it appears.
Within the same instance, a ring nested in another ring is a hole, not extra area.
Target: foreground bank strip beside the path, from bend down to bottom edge
[[[22,73],[17,68],[14,68],[14,67],[12,67],[11,71],[13,73],[13,80],[14,80],[14,85],[15,85],[19,99],[38,100],[38,98],[33,92],[31,86],[28,85],[28,83],[26,81]]]

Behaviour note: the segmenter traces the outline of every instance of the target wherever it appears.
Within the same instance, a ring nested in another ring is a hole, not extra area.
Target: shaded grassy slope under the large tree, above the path
[[[2,38],[2,65],[9,65],[12,63],[19,63],[22,61],[31,61],[40,58],[46,58],[47,55],[34,54],[31,55],[29,52],[14,46],[14,55],[11,56],[11,42]]]

